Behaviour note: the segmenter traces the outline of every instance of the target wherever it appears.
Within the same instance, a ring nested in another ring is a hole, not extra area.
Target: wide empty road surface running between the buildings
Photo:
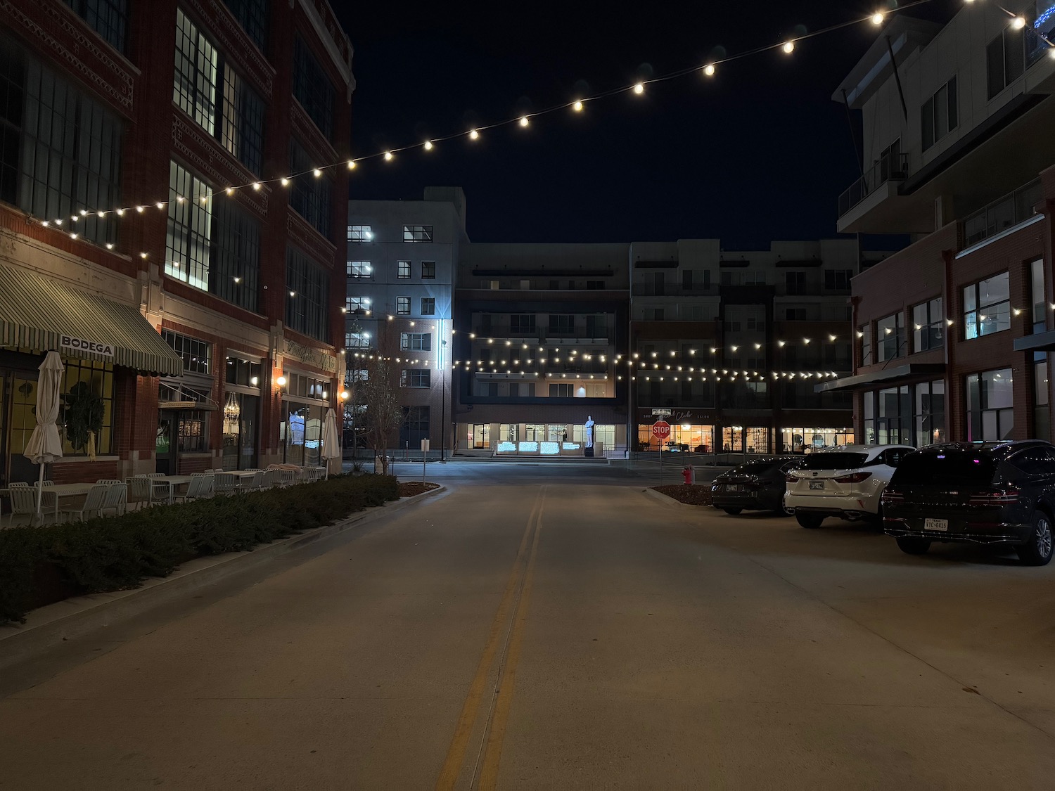
[[[600,465],[426,477],[447,490],[5,672],[0,788],[1055,786],[1055,565]]]

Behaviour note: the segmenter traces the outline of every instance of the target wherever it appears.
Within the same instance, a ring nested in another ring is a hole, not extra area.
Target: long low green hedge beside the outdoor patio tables
[[[399,499],[392,476],[158,505],[119,517],[0,530],[0,623],[66,596],[123,591],[195,557],[244,552]]]

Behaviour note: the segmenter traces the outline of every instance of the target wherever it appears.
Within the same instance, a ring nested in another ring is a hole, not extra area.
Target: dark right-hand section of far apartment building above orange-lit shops
[[[855,239],[726,251],[717,239],[631,245],[636,448],[788,452],[855,439],[849,284],[886,253]],[[660,443],[652,425],[664,420]]]

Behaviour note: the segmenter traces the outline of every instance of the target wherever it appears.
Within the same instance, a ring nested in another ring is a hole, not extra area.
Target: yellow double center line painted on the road
[[[487,643],[477,665],[476,675],[469,684],[468,695],[462,706],[454,738],[447,750],[446,760],[436,782],[438,791],[454,789],[462,775],[462,765],[468,751],[473,732],[481,713],[484,715],[480,754],[467,775],[469,788],[493,789],[498,780],[498,765],[502,754],[502,740],[513,706],[513,691],[516,682],[517,661],[523,642],[524,625],[528,622],[528,605],[531,600],[532,583],[535,576],[535,559],[538,556],[538,537],[542,532],[542,505],[545,501],[545,486],[539,491],[528,517],[528,526],[520,539],[520,548],[510,572],[505,592],[492,621]],[[530,546],[530,551],[529,551]],[[512,622],[510,616],[513,614]],[[501,649],[501,653],[499,653]],[[486,695],[487,678],[498,661],[495,690]]]

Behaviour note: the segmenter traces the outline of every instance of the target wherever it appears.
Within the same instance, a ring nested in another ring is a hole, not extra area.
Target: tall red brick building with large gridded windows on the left
[[[2,8],[2,480],[36,477],[49,350],[56,481],[318,463],[344,373],[354,86],[329,5]]]

